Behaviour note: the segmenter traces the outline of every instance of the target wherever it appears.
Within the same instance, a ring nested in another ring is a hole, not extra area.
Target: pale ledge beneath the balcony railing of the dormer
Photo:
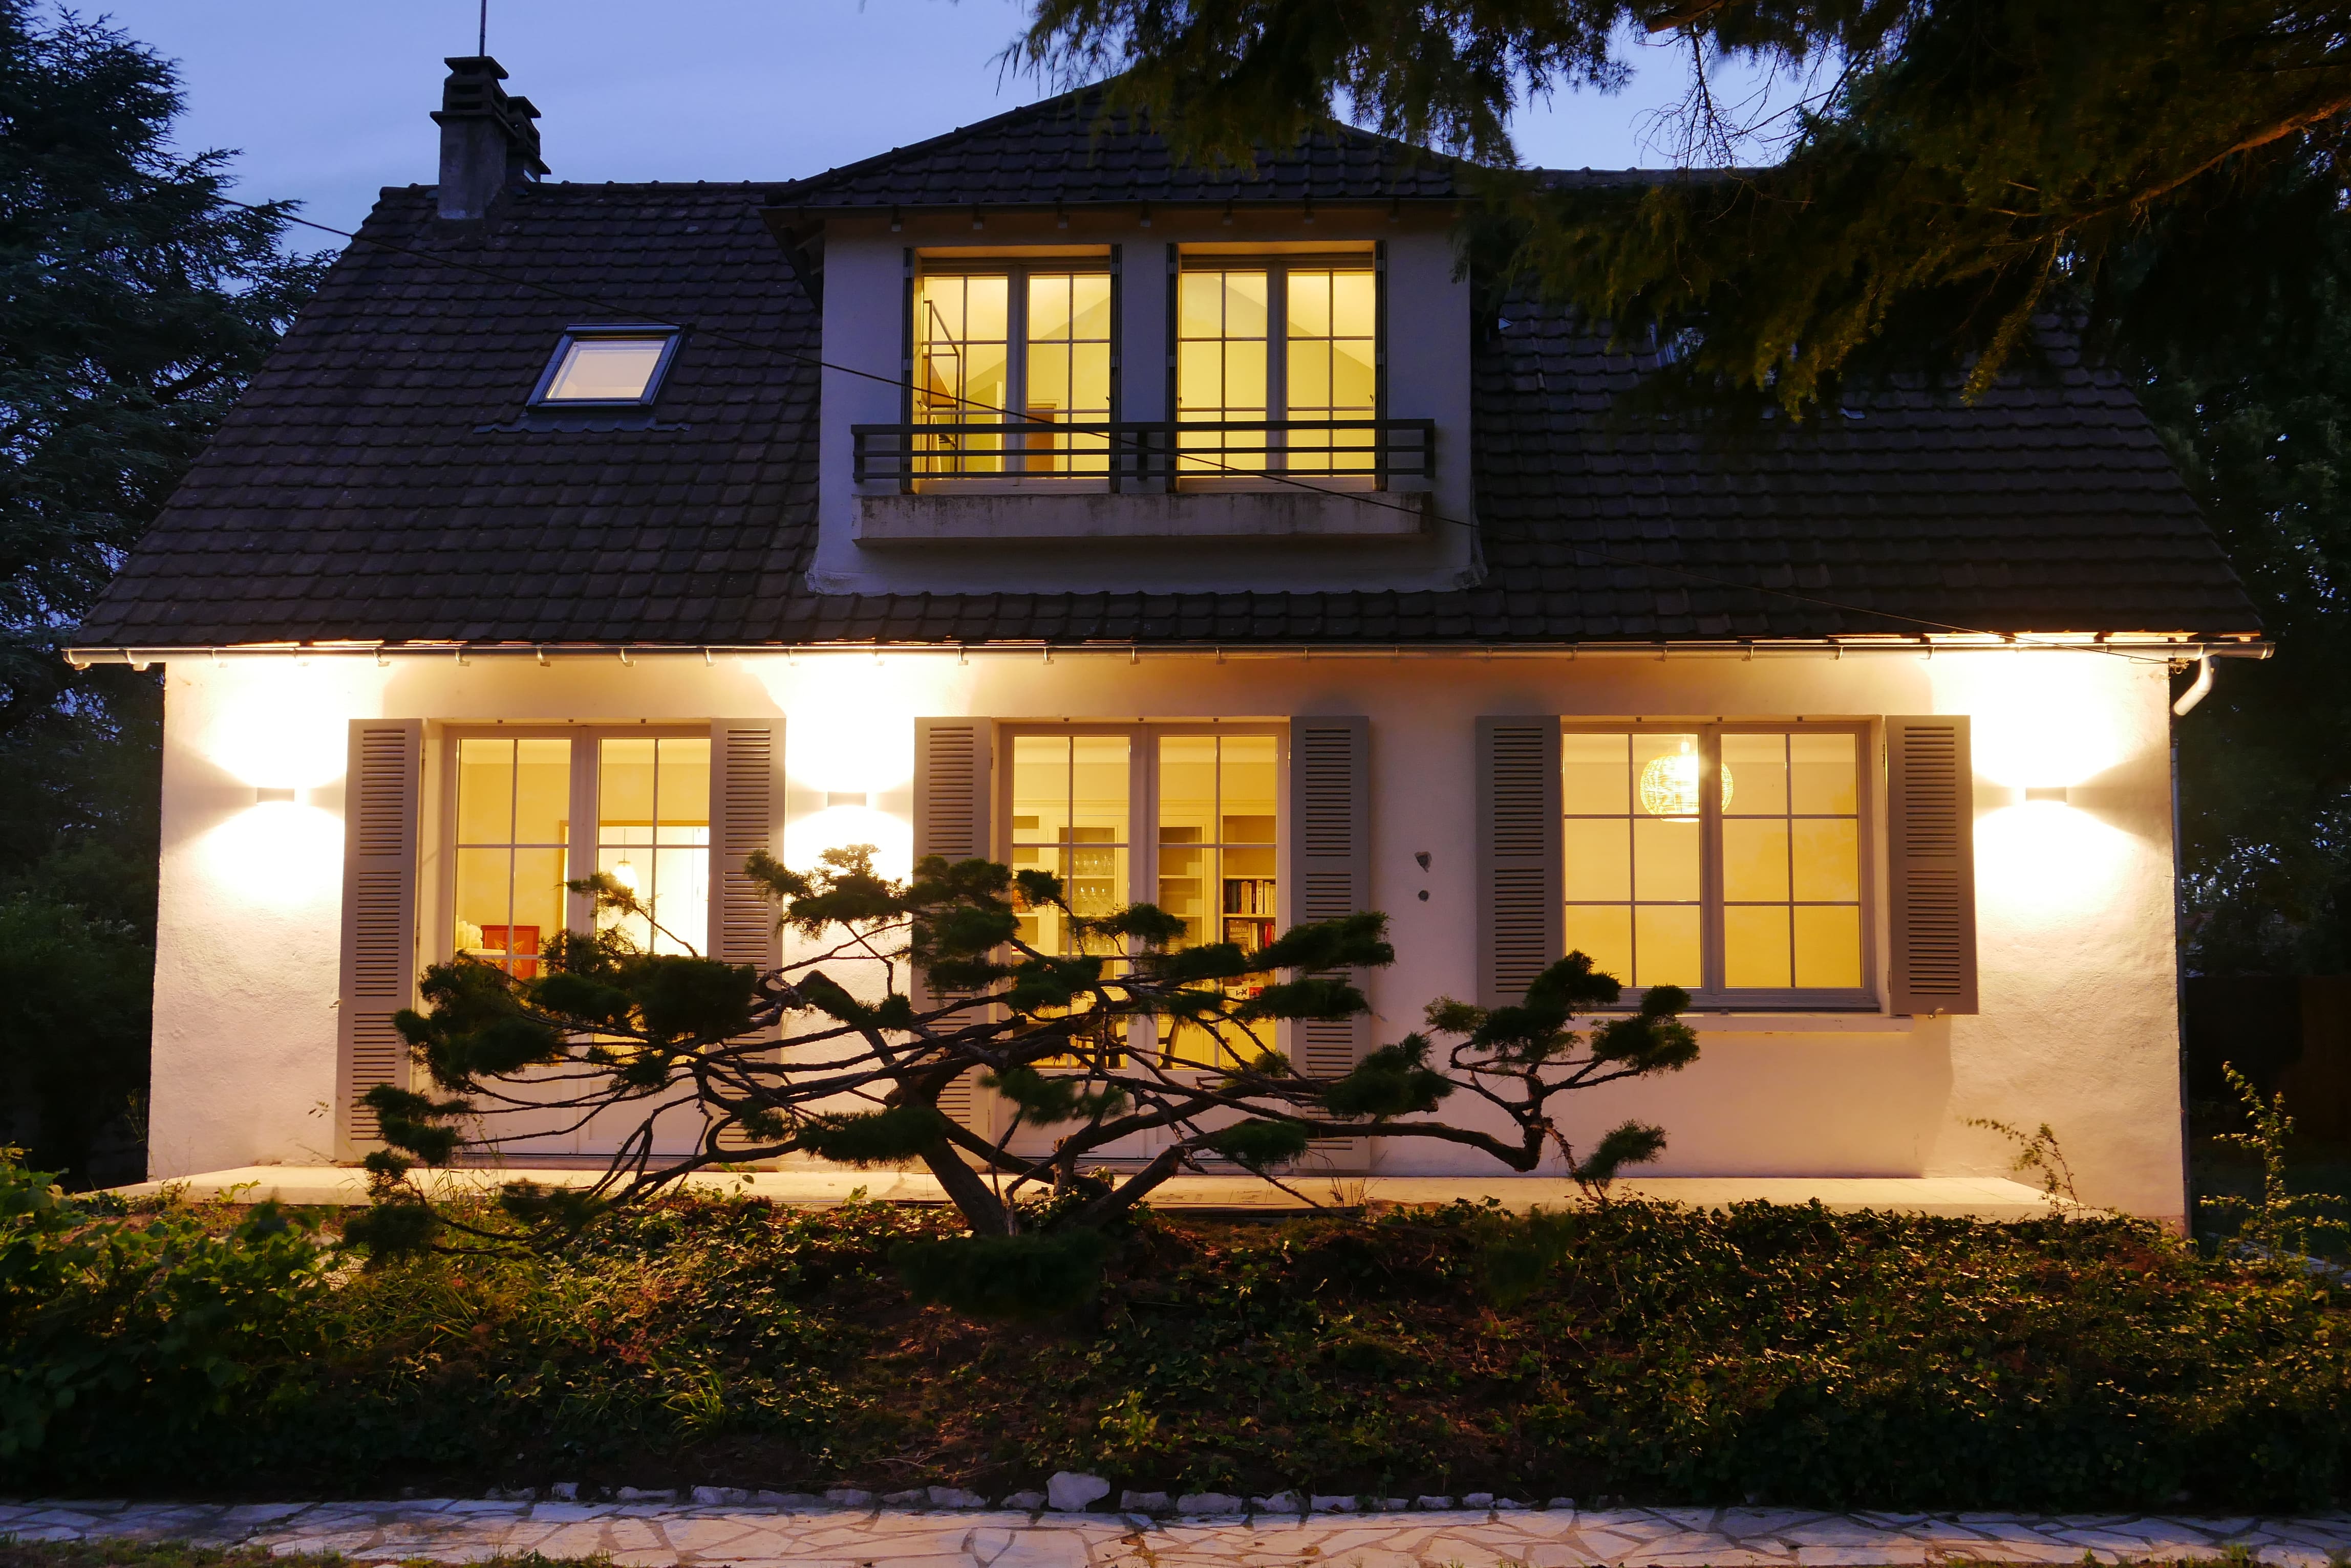
[[[1079,543],[1164,538],[1413,538],[1427,531],[1427,496],[1328,494],[1298,487],[1211,494],[1070,494],[936,489],[858,496],[851,538],[903,548],[940,543]]]

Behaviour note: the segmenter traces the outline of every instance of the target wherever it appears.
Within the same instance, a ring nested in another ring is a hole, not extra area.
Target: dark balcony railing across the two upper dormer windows
[[[851,425],[856,482],[1107,482],[1436,477],[1434,418],[994,421]]]

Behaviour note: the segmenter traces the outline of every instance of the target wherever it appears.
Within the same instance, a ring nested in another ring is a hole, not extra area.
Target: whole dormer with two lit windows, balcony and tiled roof
[[[1476,578],[1451,167],[1178,165],[1093,94],[778,193],[823,303],[823,592]]]

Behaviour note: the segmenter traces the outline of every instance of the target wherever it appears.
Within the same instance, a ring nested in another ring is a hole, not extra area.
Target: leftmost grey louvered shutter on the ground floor
[[[353,719],[343,773],[343,978],[336,997],[336,1135],[374,1147],[360,1095],[409,1086],[409,1046],[393,1013],[416,1004],[416,795],[421,719]]]

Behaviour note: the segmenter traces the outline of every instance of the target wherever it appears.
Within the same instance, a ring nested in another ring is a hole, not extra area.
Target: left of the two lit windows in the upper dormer
[[[1112,411],[1105,263],[924,263],[912,346],[915,423],[945,425],[922,437],[917,475],[1107,473],[1107,433],[1053,428],[1103,423]]]

